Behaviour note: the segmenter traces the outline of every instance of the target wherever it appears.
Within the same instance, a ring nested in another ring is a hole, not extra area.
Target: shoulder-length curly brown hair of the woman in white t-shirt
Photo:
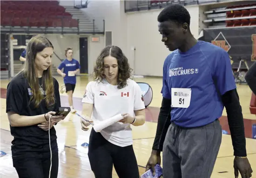
[[[128,63],[128,59],[123,54],[122,50],[118,46],[106,46],[98,56],[96,65],[94,66],[94,81],[102,81],[105,78],[104,74],[104,58],[112,56],[117,59],[118,64],[118,78],[117,88],[121,89],[127,86],[127,79],[132,78],[132,69]]]

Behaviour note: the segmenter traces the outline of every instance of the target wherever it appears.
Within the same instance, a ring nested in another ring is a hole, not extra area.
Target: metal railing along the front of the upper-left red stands
[[[80,29],[79,19],[62,15],[45,18],[2,16],[1,33],[104,34],[105,20],[102,21],[103,29],[100,30],[95,26],[95,20],[83,26],[85,28],[88,26],[88,29]]]

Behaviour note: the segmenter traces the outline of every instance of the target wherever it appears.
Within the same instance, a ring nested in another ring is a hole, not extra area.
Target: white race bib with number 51
[[[172,107],[188,108],[191,100],[191,88],[172,88]]]

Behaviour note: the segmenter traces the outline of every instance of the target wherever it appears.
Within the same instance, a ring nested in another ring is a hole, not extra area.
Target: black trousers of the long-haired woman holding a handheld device
[[[13,158],[13,167],[15,167],[19,178],[49,178],[51,157],[27,157]],[[59,167],[59,155],[53,153],[51,178],[57,178]]]

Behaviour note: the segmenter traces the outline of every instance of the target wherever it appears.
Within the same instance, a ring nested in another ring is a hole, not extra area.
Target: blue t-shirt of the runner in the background
[[[64,83],[76,84],[76,76],[68,76],[69,71],[75,71],[76,69],[80,69],[80,64],[77,60],[72,59],[71,61],[65,59],[61,62],[58,69],[62,70],[64,68],[63,73],[66,74],[64,77]]]

